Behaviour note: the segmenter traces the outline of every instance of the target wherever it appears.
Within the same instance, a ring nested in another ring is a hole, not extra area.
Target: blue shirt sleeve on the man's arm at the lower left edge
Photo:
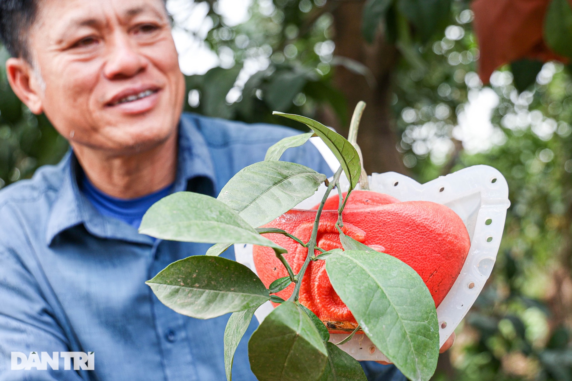
[[[73,370],[73,361],[71,369],[65,370],[59,355],[59,370],[53,370],[47,362],[46,370],[42,370],[43,366],[29,370],[18,370],[15,366],[13,370],[13,352],[21,352],[30,359],[31,352],[36,352],[41,359],[42,352],[53,358],[53,352],[70,349],[34,276],[17,255],[0,247],[0,264],[0,381],[81,381],[83,378]],[[22,358],[15,360],[23,363]]]

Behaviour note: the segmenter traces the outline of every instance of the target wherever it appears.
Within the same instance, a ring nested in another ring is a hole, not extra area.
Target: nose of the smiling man
[[[147,60],[140,54],[137,43],[130,41],[126,33],[114,34],[107,54],[104,74],[108,79],[130,78],[147,67]]]

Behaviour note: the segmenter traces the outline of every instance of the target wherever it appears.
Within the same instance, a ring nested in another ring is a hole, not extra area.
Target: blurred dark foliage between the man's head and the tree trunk
[[[300,123],[274,117],[272,111],[314,115],[327,104],[339,121],[348,122],[343,94],[331,85],[331,14],[308,23],[297,1],[255,2],[247,22],[229,27],[214,8],[209,9],[213,28],[205,42],[225,57],[225,68],[186,77],[187,111],[300,129]]]

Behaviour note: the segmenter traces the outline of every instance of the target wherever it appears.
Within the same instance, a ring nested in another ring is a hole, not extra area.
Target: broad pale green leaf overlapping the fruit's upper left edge
[[[217,199],[258,227],[313,195],[325,179],[325,175],[300,164],[258,162],[234,175]]]

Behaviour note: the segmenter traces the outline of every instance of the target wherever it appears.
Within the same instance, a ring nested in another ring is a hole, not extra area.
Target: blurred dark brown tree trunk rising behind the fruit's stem
[[[395,46],[384,41],[382,33],[378,33],[372,45],[364,41],[361,31],[363,4],[344,1],[333,10],[335,55],[362,63],[371,71],[376,83],[368,85],[366,77],[344,66],[336,67],[334,82],[347,98],[348,115],[352,115],[359,101],[367,103],[358,135],[367,173],[407,173],[396,149],[398,139],[390,110],[391,75],[399,54]]]

